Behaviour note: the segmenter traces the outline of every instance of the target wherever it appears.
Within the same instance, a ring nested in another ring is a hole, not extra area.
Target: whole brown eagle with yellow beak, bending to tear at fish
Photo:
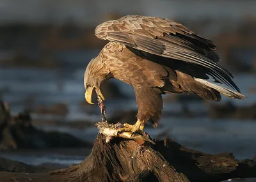
[[[105,100],[100,86],[115,78],[134,87],[137,121],[122,132],[141,133],[154,127],[163,114],[162,95],[189,93],[218,102],[221,95],[243,100],[234,77],[218,62],[216,45],[174,20],[127,15],[95,28],[95,36],[109,42],[84,72],[85,99],[92,93]]]

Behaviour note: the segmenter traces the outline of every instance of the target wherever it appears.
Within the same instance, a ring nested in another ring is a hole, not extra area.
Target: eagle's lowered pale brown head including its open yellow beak
[[[84,72],[85,99],[88,103],[94,104],[92,103],[92,93],[94,90],[102,100],[105,100],[100,91],[100,86],[104,81],[111,78],[110,75],[106,64],[104,64],[100,57],[95,57],[95,59],[90,61]]]

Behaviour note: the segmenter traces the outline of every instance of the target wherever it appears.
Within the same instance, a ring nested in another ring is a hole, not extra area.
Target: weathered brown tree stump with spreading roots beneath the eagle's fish
[[[184,148],[171,139],[156,145],[115,138],[95,140],[91,154],[81,163],[49,172],[1,172],[5,181],[222,181],[256,177],[256,162],[235,160],[231,153],[210,155]]]

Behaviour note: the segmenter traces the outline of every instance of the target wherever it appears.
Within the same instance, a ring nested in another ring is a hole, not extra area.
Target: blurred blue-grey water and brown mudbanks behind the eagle
[[[172,137],[188,148],[207,153],[229,151],[239,159],[253,158],[256,155],[256,110],[252,109],[256,104],[255,7],[256,1],[231,0],[24,0],[23,3],[1,0],[0,98],[9,104],[13,115],[29,110],[33,125],[41,130],[71,133],[93,142],[97,136],[93,125],[101,116],[97,105],[84,102],[83,74],[90,59],[106,44],[94,36],[95,26],[129,14],[165,17],[214,40],[220,63],[233,73],[237,86],[248,99],[223,97],[221,102],[212,103],[193,96],[166,95],[161,125],[147,128],[148,133],[153,138]],[[132,87],[118,80],[110,82],[111,86],[105,89],[107,116],[136,110]],[[221,114],[227,112],[223,109],[216,116],[211,112],[212,107],[227,102],[235,108],[231,113],[238,114],[226,116]],[[250,114],[243,115],[244,112]],[[90,149],[84,148],[81,151],[17,149],[3,151],[0,156],[35,165],[49,162],[68,165],[81,162],[88,153]]]

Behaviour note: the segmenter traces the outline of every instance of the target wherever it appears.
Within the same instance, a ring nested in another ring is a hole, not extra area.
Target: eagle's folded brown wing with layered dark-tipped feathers
[[[217,64],[216,45],[175,21],[128,15],[100,24],[95,29],[95,35],[102,40],[124,43],[157,56],[198,64],[218,82],[239,91],[231,73]]]

